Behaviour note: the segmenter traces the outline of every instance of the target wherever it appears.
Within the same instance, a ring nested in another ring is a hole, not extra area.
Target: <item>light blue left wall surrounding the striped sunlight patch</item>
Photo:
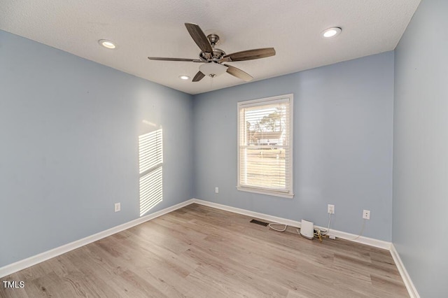
[[[188,94],[0,31],[0,267],[139,218],[139,134],[164,133],[150,213],[192,198],[192,115]]]

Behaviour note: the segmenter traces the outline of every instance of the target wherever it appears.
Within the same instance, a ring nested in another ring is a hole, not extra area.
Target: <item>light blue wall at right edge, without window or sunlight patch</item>
[[[393,244],[421,297],[447,297],[448,1],[423,0],[395,50]]]

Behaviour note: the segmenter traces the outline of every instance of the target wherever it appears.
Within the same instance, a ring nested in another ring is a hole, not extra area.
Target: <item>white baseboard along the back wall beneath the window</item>
[[[296,220],[288,220],[286,218],[278,218],[276,216],[267,215],[264,213],[253,212],[253,211],[248,211],[248,210],[241,209],[241,208],[230,207],[230,206],[226,206],[226,205],[222,205],[222,204],[213,203],[211,201],[204,201],[202,199],[193,199],[192,202],[201,204],[204,206],[218,208],[218,209],[225,210],[225,211],[230,211],[230,212],[234,212],[234,213],[252,216],[254,218],[260,218],[262,220],[269,220],[270,222],[279,222],[283,225],[290,225],[292,227],[300,227],[300,222],[298,222]],[[316,226],[316,227],[318,227],[318,226]],[[318,227],[318,228],[326,229],[326,227]],[[355,239],[358,235],[337,231],[335,229],[331,229],[330,234],[335,235],[341,239],[346,239],[346,240],[357,242],[357,243],[367,244],[368,246],[374,246],[374,247],[383,248],[386,250],[391,249],[391,243],[387,242],[387,241],[382,241],[382,240],[373,239],[373,238],[364,237],[364,236],[360,236],[360,237],[358,237],[358,239]]]

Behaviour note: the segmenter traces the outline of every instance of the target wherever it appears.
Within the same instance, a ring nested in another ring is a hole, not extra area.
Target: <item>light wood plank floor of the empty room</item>
[[[409,297],[391,254],[191,204],[0,281],[0,297]]]

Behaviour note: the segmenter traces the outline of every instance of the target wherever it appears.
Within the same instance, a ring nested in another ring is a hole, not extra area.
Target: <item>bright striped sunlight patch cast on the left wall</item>
[[[162,129],[139,136],[140,216],[163,198],[162,139]]]

